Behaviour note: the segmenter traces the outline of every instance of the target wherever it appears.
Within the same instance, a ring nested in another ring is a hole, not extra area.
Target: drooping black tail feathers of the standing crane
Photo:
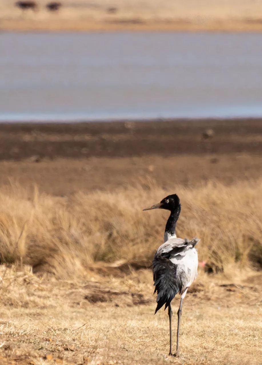
[[[177,266],[168,258],[155,257],[153,261],[153,278],[157,293],[157,307],[155,314],[165,304],[165,309],[175,295],[181,292],[179,279],[176,277]]]

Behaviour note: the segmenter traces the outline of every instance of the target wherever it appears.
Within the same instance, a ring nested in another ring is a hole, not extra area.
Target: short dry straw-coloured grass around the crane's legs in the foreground
[[[57,281],[29,267],[3,272],[1,364],[261,364],[261,274],[234,285],[200,272],[184,302],[176,359],[166,356],[167,313],[153,315],[149,270],[100,283],[91,273]]]

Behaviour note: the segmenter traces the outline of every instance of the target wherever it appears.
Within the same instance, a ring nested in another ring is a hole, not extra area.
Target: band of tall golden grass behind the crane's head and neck
[[[232,186],[209,182],[164,191],[147,181],[115,192],[70,197],[34,194],[12,185],[0,191],[0,261],[23,262],[58,277],[84,274],[94,262],[123,259],[150,266],[163,241],[168,212],[142,209],[177,193],[179,237],[198,237],[209,270],[245,269],[261,260],[262,179]]]

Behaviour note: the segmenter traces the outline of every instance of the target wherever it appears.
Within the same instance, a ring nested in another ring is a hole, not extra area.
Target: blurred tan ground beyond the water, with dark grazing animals
[[[261,31],[259,0],[78,0],[62,1],[48,12],[38,0],[37,11],[21,11],[1,0],[2,30],[184,30]]]

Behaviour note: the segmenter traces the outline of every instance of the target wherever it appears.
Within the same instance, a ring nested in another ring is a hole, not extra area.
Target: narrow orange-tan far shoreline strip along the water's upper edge
[[[262,32],[259,19],[211,21],[203,24],[191,23],[190,20],[146,22],[140,19],[113,20],[112,22],[90,22],[83,20],[7,20],[2,19],[0,32]]]

